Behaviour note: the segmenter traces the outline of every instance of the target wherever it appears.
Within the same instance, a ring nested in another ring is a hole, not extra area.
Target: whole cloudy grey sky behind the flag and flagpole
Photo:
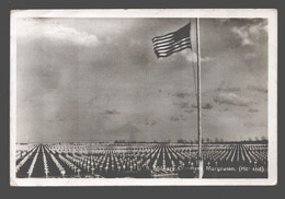
[[[189,19],[16,21],[16,141],[197,139],[196,38],[157,59]],[[201,19],[202,132],[267,137],[267,21]]]

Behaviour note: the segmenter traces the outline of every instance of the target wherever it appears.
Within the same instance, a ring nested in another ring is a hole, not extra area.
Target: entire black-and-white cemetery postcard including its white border
[[[11,11],[11,186],[275,185],[273,9]]]

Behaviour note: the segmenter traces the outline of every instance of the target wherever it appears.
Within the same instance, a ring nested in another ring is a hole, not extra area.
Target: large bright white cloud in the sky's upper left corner
[[[54,42],[71,42],[80,46],[92,46],[99,43],[95,35],[79,32],[73,27],[65,26],[53,21],[37,19],[19,20],[18,37],[21,39],[48,39]]]

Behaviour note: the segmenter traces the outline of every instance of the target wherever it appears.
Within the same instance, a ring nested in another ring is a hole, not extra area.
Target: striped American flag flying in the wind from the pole
[[[176,51],[192,48],[190,39],[190,23],[180,30],[163,36],[152,38],[153,49],[158,58],[168,57]]]

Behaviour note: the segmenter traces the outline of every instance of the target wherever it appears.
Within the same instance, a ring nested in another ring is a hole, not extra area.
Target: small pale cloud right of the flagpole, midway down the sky
[[[244,96],[239,96],[235,93],[219,93],[214,96],[214,101],[219,104],[228,104],[236,106],[248,106],[251,101]]]

